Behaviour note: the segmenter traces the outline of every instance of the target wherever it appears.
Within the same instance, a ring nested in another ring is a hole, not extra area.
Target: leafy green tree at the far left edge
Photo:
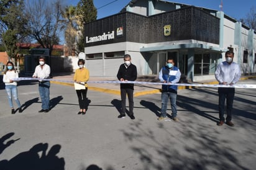
[[[9,58],[17,59],[19,50],[17,42],[27,36],[24,27],[26,24],[23,0],[2,0],[0,2],[0,43],[4,45]]]

